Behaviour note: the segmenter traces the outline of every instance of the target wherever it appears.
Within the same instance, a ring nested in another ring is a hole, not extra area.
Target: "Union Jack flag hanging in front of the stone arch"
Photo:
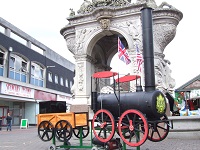
[[[119,37],[118,37],[118,56],[119,56],[120,60],[122,60],[124,63],[126,63],[126,65],[131,63],[130,57],[128,55],[128,51],[126,50],[126,48],[122,44]]]

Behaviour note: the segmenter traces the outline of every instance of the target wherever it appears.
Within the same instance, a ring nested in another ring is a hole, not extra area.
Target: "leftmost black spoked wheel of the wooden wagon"
[[[54,126],[49,121],[42,121],[38,126],[38,136],[42,141],[50,141],[54,136]]]

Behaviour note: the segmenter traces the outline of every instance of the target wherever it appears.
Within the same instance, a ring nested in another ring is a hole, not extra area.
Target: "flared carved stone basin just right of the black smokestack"
[[[157,9],[153,12],[154,51],[163,53],[165,47],[176,35],[176,27],[182,19],[178,10]]]

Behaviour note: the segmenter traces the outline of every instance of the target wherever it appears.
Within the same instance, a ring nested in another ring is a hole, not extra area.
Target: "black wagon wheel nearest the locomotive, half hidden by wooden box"
[[[73,133],[77,138],[86,138],[89,134],[89,126],[84,126],[84,127],[76,127],[73,129]]]

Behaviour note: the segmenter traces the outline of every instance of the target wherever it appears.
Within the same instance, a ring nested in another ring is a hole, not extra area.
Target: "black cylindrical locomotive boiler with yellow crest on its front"
[[[160,118],[166,112],[165,97],[162,92],[157,90],[122,93],[120,100],[117,100],[117,98],[115,94],[99,95],[94,110],[107,109],[115,119],[120,113],[129,109],[137,109],[146,114],[147,118]]]

